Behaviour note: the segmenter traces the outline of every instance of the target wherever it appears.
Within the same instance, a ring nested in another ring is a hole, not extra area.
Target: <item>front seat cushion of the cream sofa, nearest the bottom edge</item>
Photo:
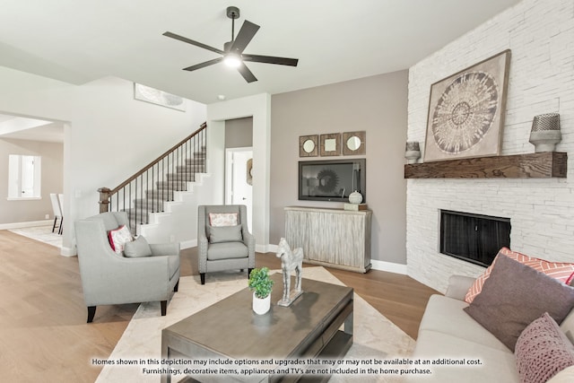
[[[407,382],[434,383],[485,383],[517,382],[517,368],[514,354],[505,350],[492,349],[483,344],[474,343],[455,335],[431,330],[419,332],[413,360],[429,359],[432,361],[461,360],[477,361],[477,365],[431,364],[419,365],[418,368],[429,368],[431,375],[413,374],[406,377]],[[417,367],[414,365],[413,367]]]

